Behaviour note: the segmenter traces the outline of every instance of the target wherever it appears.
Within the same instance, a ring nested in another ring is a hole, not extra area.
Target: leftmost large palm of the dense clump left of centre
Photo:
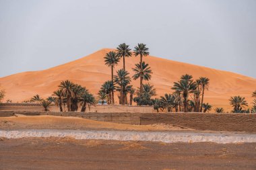
[[[62,90],[61,95],[64,95],[65,97],[67,97],[67,111],[70,112],[71,111],[71,97],[74,96],[73,87],[75,87],[75,85],[71,81],[66,80],[66,81],[62,81],[61,85],[59,85],[59,87]]]

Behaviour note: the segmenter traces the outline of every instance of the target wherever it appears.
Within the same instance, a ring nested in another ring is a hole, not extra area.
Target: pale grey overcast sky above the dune
[[[0,0],[0,77],[123,42],[147,44],[153,56],[256,78],[256,1]]]

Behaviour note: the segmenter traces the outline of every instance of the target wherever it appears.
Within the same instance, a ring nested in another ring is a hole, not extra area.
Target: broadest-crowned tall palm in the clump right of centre
[[[187,112],[189,93],[193,93],[196,87],[195,82],[189,79],[181,79],[178,82],[174,82],[172,89],[175,90],[175,93],[181,93],[183,95],[184,112]]]

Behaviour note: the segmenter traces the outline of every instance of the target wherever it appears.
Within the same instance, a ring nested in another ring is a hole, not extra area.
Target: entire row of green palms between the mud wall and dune
[[[179,81],[174,82],[172,93],[165,93],[160,98],[156,96],[156,89],[149,81],[152,77],[150,65],[143,61],[143,58],[150,54],[146,44],[137,44],[132,51],[129,45],[123,43],[117,47],[117,50],[110,51],[104,56],[104,63],[110,68],[111,79],[104,82],[97,93],[99,103],[114,105],[132,105],[133,101],[137,105],[154,105],[154,110],[159,112],[209,112],[212,110],[212,105],[203,103],[205,91],[208,90],[210,79],[207,77],[199,77],[193,80],[192,75],[182,75]],[[125,69],[125,59],[130,56],[138,56],[140,62],[132,68],[134,74],[130,77],[130,73]],[[123,69],[115,71],[115,66],[123,60]],[[131,85],[131,79],[139,80],[139,87],[135,88]],[[115,102],[115,94],[119,101]],[[51,103],[59,106],[61,112],[63,108],[67,108],[68,112],[81,111],[85,112],[86,108],[95,105],[97,100],[86,87],[77,85],[69,80],[61,82],[59,89],[53,92],[53,96],[48,99],[40,99],[38,95],[32,97],[31,101],[41,102],[47,111]],[[253,110],[256,112],[256,92]],[[232,112],[248,112],[243,110],[247,106],[247,101],[244,97],[230,97],[230,105],[234,107]],[[224,112],[223,108],[216,108],[215,112]]]

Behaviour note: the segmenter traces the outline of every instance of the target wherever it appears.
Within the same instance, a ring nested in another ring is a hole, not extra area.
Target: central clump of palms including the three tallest
[[[139,79],[139,89],[135,89],[131,85],[131,77],[128,71],[125,70],[125,58],[132,56],[132,54],[140,56],[140,62],[133,68],[135,74],[132,76],[134,80]],[[129,45],[123,43],[117,47],[116,51],[110,51],[104,56],[105,65],[111,68],[111,80],[104,82],[98,92],[98,99],[102,101],[102,104],[105,99],[108,104],[115,104],[115,91],[119,93],[117,96],[121,105],[132,105],[133,101],[137,105],[142,105],[145,103],[142,102],[145,97],[148,101],[152,101],[149,97],[156,95],[156,90],[149,83],[143,84],[143,81],[149,81],[151,79],[152,71],[150,70],[150,66],[143,61],[143,56],[148,56],[149,54],[150,52],[146,44],[137,44],[132,52]],[[119,64],[121,58],[123,58],[123,69],[116,71],[116,75],[114,75],[115,66]],[[150,87],[154,93],[150,91],[150,95],[148,95],[149,92],[146,90],[149,90]],[[135,94],[137,94],[137,97],[133,99],[133,95]],[[150,105],[150,102],[147,105]]]

